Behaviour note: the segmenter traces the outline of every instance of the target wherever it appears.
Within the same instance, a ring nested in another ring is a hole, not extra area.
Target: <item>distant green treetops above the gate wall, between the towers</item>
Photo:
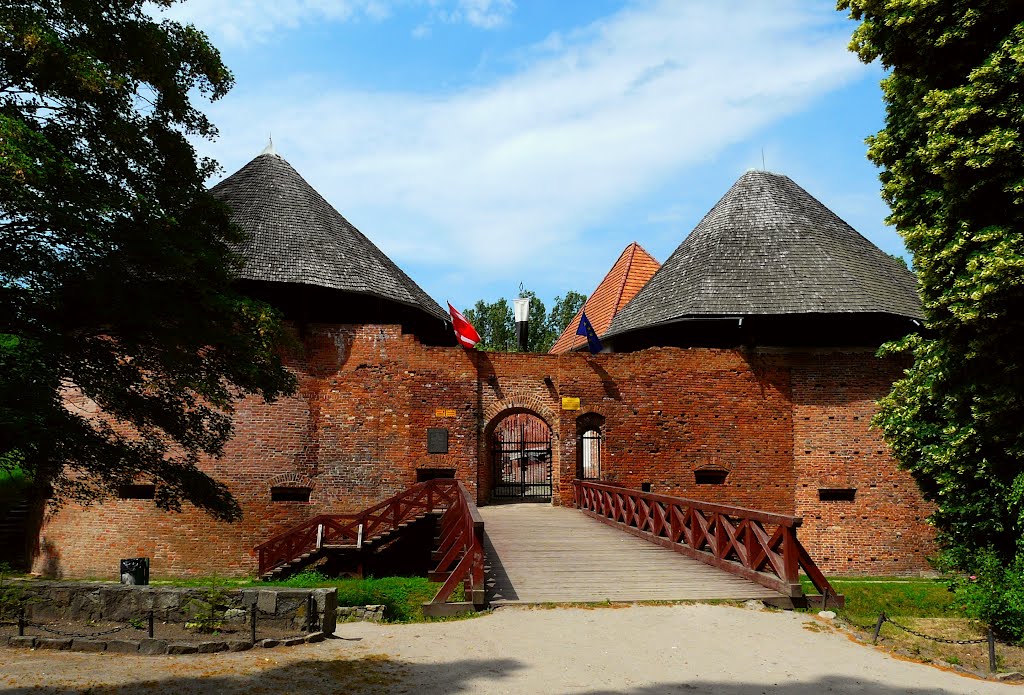
[[[565,327],[587,301],[585,295],[569,290],[564,297],[555,297],[550,313],[537,294],[524,290],[520,295],[529,297],[529,336],[527,352],[547,352],[558,340]],[[462,312],[480,334],[479,348],[501,352],[517,352],[515,320],[512,303],[502,297],[496,302],[478,300],[473,308]]]

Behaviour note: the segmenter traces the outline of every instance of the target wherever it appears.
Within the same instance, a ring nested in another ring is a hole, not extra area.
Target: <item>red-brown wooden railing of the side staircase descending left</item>
[[[358,514],[322,514],[257,546],[260,575],[325,547],[358,547],[437,509],[459,507],[465,488],[452,479],[417,483]]]

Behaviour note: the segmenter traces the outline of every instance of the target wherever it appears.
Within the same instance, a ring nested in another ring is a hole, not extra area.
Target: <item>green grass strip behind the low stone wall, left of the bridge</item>
[[[261,581],[250,577],[219,578],[194,577],[165,579],[151,582],[165,587],[206,588],[212,584],[225,590],[291,587],[294,589],[336,588],[338,606],[384,606],[384,616],[389,622],[422,622],[423,604],[434,598],[440,584],[425,577],[380,577],[368,579],[332,579],[316,571],[299,572],[281,581]],[[462,601],[461,588],[452,601]]]

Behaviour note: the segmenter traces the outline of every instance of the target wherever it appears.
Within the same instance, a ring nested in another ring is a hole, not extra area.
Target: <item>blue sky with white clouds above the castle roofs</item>
[[[234,88],[216,180],[276,151],[442,306],[664,262],[750,169],[888,253],[879,66],[835,0],[187,0]]]

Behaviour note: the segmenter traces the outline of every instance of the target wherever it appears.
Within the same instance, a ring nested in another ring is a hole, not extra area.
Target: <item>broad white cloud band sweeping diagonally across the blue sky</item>
[[[861,75],[831,14],[796,0],[644,2],[461,91],[240,85],[212,110],[212,154],[233,169],[272,131],[399,264],[441,267],[459,249],[494,276],[526,260],[564,267],[617,207]]]

